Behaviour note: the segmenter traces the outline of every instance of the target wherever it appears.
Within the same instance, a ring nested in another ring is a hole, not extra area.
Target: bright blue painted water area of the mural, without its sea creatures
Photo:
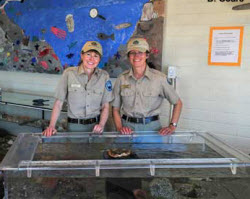
[[[62,65],[76,65],[80,60],[82,45],[88,40],[99,41],[104,51],[99,65],[102,68],[109,57],[116,54],[120,44],[126,44],[131,37],[146,2],[148,0],[25,0],[24,3],[9,2],[5,11],[25,31],[26,36],[31,39],[33,36],[40,40],[44,38],[52,46]],[[89,11],[93,7],[97,8],[106,20],[91,18]],[[65,22],[68,14],[72,14],[74,18],[75,30],[72,33],[68,32]],[[115,29],[115,26],[121,23],[132,25],[121,30]],[[53,34],[51,27],[65,31],[65,39]],[[46,30],[44,34],[42,29]],[[98,33],[114,33],[115,39],[101,40],[97,37]],[[72,43],[75,45],[69,49],[68,46]],[[66,55],[70,53],[73,57],[68,58]]]

